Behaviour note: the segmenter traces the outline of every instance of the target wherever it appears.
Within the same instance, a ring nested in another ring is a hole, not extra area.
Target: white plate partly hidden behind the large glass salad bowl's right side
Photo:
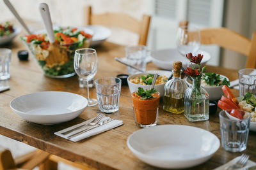
[[[86,28],[93,31],[92,42],[90,46],[96,46],[103,43],[109,36],[111,36],[111,31],[107,27],[102,25],[87,25]]]

